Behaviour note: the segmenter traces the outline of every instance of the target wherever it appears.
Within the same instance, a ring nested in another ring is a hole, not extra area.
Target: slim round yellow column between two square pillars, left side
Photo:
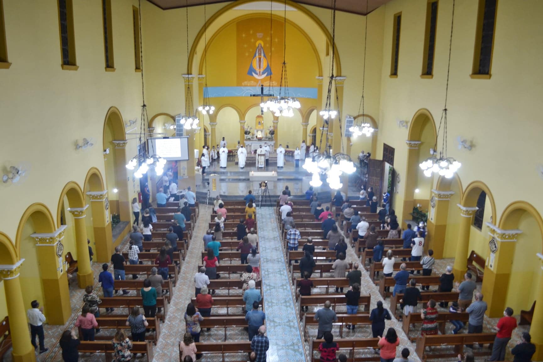
[[[87,246],[87,228],[85,216],[87,207],[70,207],[68,211],[73,215],[75,224],[75,245],[77,245],[77,282],[79,288],[94,285],[94,274],[91,269],[89,247]]]

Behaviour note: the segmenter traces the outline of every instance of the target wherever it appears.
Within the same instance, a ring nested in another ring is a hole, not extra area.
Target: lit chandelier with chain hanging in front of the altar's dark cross
[[[298,98],[290,97],[288,94],[288,76],[287,76],[287,1],[285,0],[285,15],[283,21],[283,66],[281,67],[281,81],[279,84],[279,97],[268,98],[266,103],[262,103],[260,106],[264,111],[268,109],[274,113],[274,116],[279,117],[294,117],[293,109],[299,109],[301,107]],[[270,49],[271,50],[271,49]],[[271,51],[270,51],[271,56]],[[270,58],[271,59],[271,58]],[[271,75],[270,75],[271,79]],[[285,87],[283,88],[283,82]],[[284,92],[283,95],[281,95]]]

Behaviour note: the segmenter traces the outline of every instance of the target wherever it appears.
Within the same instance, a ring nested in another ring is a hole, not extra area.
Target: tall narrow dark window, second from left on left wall
[[[77,71],[72,0],[58,0],[62,69]]]

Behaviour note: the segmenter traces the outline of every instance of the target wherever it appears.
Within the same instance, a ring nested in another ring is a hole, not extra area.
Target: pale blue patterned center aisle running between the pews
[[[257,208],[256,211],[269,339],[267,361],[301,362],[306,357],[274,211],[274,207]]]

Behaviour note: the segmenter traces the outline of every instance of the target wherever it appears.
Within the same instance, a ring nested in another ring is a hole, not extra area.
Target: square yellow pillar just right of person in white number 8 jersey
[[[434,251],[434,258],[443,259],[447,217],[449,216],[449,201],[454,192],[432,190],[430,211],[428,212],[428,233],[426,234],[425,249]]]

